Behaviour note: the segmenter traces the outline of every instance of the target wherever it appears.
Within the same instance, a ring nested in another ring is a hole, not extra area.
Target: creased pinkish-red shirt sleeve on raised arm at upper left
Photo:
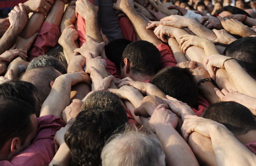
[[[42,56],[49,49],[56,46],[60,35],[60,28],[57,25],[44,22],[38,33],[38,37],[28,52],[27,61]]]

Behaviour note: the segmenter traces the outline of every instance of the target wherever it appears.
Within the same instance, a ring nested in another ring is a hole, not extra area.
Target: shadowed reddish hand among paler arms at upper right
[[[220,21],[214,16],[203,16],[200,20],[200,23],[207,27],[208,29],[216,28],[222,29],[222,25]]]

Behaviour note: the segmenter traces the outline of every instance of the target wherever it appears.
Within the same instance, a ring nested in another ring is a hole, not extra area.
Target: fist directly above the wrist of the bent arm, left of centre
[[[78,71],[84,71],[85,57],[81,55],[73,56],[68,63],[68,73],[75,73]]]

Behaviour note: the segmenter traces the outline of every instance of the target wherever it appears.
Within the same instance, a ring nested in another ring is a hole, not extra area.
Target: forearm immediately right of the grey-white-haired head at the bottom
[[[155,130],[166,154],[166,165],[199,165],[191,148],[171,125],[155,125]]]

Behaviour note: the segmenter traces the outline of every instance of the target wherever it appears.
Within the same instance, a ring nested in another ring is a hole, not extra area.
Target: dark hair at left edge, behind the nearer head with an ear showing
[[[22,80],[11,80],[5,83],[0,84],[0,95],[1,96],[12,96],[17,97],[18,99],[26,101],[34,109],[35,113],[36,101],[34,94],[37,94],[36,87],[26,81]]]

